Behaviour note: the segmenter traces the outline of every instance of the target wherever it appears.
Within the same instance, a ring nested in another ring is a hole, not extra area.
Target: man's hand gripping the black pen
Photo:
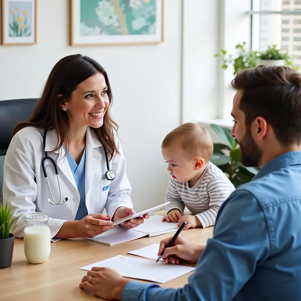
[[[206,246],[191,244],[187,239],[178,236],[174,242],[174,246],[166,248],[172,237],[161,240],[158,256],[164,250],[162,259],[166,263],[179,264],[180,261],[188,263],[196,263]]]

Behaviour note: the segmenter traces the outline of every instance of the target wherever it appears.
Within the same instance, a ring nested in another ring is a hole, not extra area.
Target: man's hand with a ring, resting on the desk
[[[121,300],[121,294],[130,282],[111,268],[94,267],[82,278],[79,287],[106,300]]]

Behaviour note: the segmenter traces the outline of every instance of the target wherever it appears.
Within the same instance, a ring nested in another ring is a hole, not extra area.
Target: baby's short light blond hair
[[[181,124],[165,136],[161,147],[169,147],[175,142],[180,142],[180,146],[189,158],[197,156],[205,161],[210,161],[212,157],[212,138],[207,129],[199,124]]]

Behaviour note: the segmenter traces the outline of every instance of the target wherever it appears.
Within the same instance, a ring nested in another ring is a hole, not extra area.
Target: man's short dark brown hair
[[[237,73],[232,87],[242,90],[239,109],[246,126],[262,116],[283,145],[301,142],[301,75],[284,66],[258,66]]]

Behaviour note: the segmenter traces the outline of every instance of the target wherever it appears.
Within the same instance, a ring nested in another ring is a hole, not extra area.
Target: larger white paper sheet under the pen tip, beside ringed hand
[[[115,257],[86,265],[81,270],[90,271],[93,267],[108,267],[116,270],[121,276],[165,283],[195,270],[183,265],[155,263],[154,260],[117,255]]]

